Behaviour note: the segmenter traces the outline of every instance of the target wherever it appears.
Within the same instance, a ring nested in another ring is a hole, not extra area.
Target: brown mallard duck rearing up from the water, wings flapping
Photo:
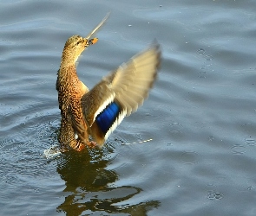
[[[158,72],[161,51],[154,41],[147,50],[123,63],[89,91],[77,76],[75,61],[85,48],[98,41],[91,36],[107,18],[87,37],[71,36],[62,52],[56,90],[62,115],[58,140],[64,148],[78,151],[85,146],[101,148],[123,118],[142,105]]]

